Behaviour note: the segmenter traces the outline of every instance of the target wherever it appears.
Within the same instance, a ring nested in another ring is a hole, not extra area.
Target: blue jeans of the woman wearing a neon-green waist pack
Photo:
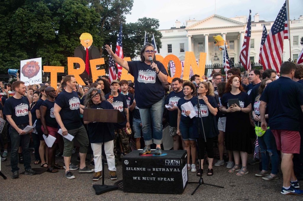
[[[268,170],[269,157],[271,158],[271,174],[278,174],[279,155],[275,137],[268,129],[265,134],[258,137],[262,156],[262,170]]]

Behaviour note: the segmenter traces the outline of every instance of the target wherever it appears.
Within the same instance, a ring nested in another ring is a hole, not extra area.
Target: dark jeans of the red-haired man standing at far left
[[[26,126],[19,126],[20,129],[24,129]],[[10,136],[11,136],[11,143],[12,143],[12,152],[11,152],[11,166],[12,166],[12,172],[19,171],[18,168],[18,149],[21,142],[22,146],[22,155],[24,159],[24,169],[28,170],[31,169],[31,155],[29,153],[29,141],[30,136],[29,134],[24,134],[19,136],[19,133],[14,129],[12,126],[10,127]]]

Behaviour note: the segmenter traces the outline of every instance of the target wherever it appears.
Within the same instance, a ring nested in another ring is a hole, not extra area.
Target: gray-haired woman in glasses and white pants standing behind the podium
[[[97,88],[91,88],[85,97],[84,104],[92,109],[114,110],[112,104],[105,100],[103,92]],[[108,170],[111,180],[116,180],[116,167],[114,156],[114,126],[113,123],[87,122],[87,132],[94,153],[95,174],[93,181],[102,177],[102,143],[104,136],[104,151],[108,163]]]

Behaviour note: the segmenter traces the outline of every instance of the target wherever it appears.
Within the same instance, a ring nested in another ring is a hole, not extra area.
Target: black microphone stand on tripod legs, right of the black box
[[[204,125],[203,125],[203,121],[202,121],[202,116],[201,116],[201,110],[200,110],[200,102],[199,102],[199,94],[197,96],[198,98],[198,134],[199,134],[199,138],[198,138],[198,144],[199,144],[199,154],[200,154],[200,158],[204,157],[201,155],[201,138],[200,138],[200,121],[201,121],[201,124],[202,124],[202,129],[203,129],[203,135],[204,135],[204,140],[205,140],[205,143],[206,143],[206,137],[205,137],[205,131],[204,131]],[[203,166],[203,164],[201,164],[201,159],[198,159],[199,160],[199,170],[201,170],[201,167]],[[224,188],[223,186],[218,186],[218,185],[214,185],[214,184],[210,184],[210,183],[204,183],[203,181],[203,178],[202,178],[202,173],[200,172],[200,179],[198,182],[188,182],[188,183],[198,183],[198,186],[195,188],[195,190],[191,193],[191,195],[193,195],[196,190],[198,190],[198,188],[204,184],[204,185],[209,185],[209,186],[215,186],[215,187],[220,187],[220,188]]]

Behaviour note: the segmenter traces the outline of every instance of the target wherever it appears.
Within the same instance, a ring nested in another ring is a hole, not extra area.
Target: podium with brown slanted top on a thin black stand
[[[103,122],[103,123],[121,123],[125,120],[124,116],[121,114],[119,110],[107,110],[107,109],[88,109],[85,108],[83,110],[83,121],[88,122]],[[103,135],[103,145],[104,146],[104,135]],[[96,191],[96,195],[100,195],[102,193],[117,190],[118,186],[108,186],[104,185],[104,160],[105,153],[102,151],[102,185],[94,184],[93,188]]]

